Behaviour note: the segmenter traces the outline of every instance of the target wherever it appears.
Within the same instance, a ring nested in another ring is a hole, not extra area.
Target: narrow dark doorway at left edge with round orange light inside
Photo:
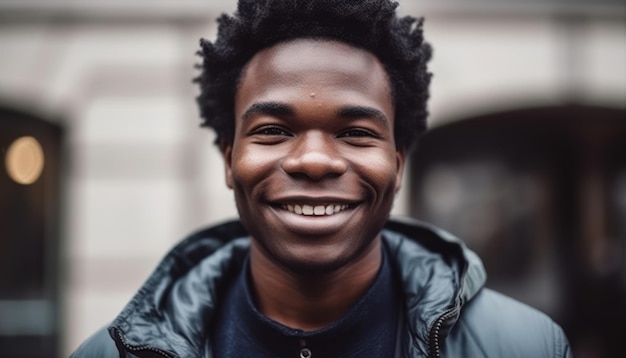
[[[0,108],[0,356],[55,357],[62,130]]]

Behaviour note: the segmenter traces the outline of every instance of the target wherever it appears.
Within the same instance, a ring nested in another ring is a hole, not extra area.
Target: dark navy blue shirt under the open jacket
[[[384,249],[368,291],[342,318],[316,331],[292,329],[263,315],[250,282],[246,260],[214,320],[215,357],[393,357],[401,300]]]

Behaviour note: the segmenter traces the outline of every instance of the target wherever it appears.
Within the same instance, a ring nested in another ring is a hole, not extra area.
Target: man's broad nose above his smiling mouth
[[[348,169],[333,140],[319,132],[296,138],[281,165],[292,176],[304,176],[315,181],[340,176]]]

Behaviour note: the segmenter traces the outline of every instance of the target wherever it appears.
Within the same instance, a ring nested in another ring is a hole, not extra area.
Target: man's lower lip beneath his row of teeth
[[[291,232],[302,236],[328,235],[340,231],[355,215],[358,206],[346,208],[333,215],[299,215],[269,206],[275,218]]]

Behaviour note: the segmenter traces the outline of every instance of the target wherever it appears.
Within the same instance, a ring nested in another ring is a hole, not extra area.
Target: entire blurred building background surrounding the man
[[[576,357],[626,338],[621,0],[400,1],[435,49],[394,213],[484,259]],[[234,217],[191,79],[234,0],[0,0],[0,356],[63,357],[188,232]]]

